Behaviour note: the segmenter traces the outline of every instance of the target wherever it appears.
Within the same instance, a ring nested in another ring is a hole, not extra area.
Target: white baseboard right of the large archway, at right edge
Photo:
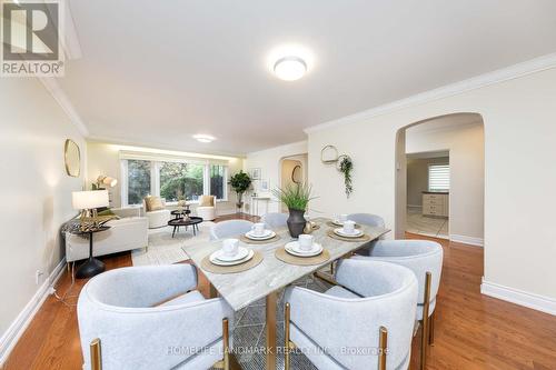
[[[556,316],[556,299],[500,286],[486,281],[485,278],[483,278],[483,282],[480,284],[480,292],[488,297],[502,299],[507,302]]]

